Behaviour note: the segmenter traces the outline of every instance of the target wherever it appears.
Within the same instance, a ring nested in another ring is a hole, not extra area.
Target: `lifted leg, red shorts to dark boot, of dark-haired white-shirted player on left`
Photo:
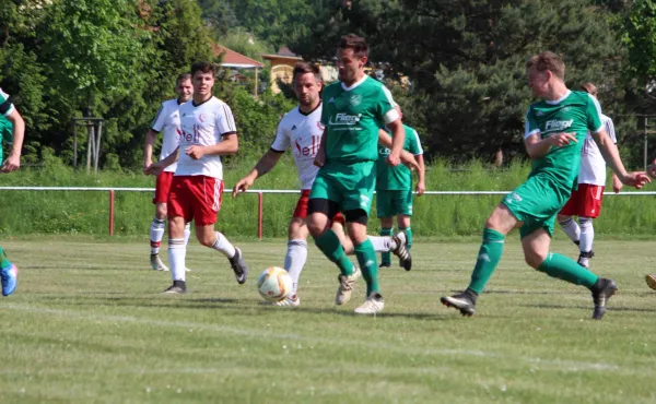
[[[248,266],[244,261],[242,250],[233,246],[223,234],[214,230],[216,215],[221,210],[223,181],[211,177],[197,180],[198,183],[195,190],[202,193],[197,193],[195,198],[194,223],[196,224],[196,237],[201,245],[214,249],[227,258],[237,283],[243,285],[248,277]]]

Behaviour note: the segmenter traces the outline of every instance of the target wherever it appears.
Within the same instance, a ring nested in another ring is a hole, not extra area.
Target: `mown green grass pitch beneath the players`
[[[285,243],[236,245],[246,285],[195,245],[190,293],[168,296],[145,241],[3,240],[20,283],[0,300],[0,402],[656,401],[656,293],[643,280],[656,271],[653,242],[596,245],[594,270],[621,290],[602,321],[589,319],[586,289],[529,270],[515,239],[472,318],[438,297],[467,284],[478,242],[417,243],[411,272],[382,272],[376,318],[352,314],[363,283],[335,306],[337,270],[314,247],[302,306],[260,306],[254,281],[282,263]],[[554,249],[576,254],[562,237]]]

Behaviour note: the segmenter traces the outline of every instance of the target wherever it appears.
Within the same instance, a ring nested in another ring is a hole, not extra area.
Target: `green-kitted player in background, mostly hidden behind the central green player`
[[[403,112],[401,107],[395,106],[401,119]],[[419,164],[415,191],[421,197],[425,191],[424,175],[425,167],[423,162],[423,150],[419,141],[417,131],[403,124],[406,132],[406,142],[403,150],[413,154]],[[384,131],[384,135],[388,135]],[[394,234],[394,216],[397,216],[399,231],[402,231],[407,238],[408,250],[412,247],[412,228],[410,227],[410,217],[412,216],[412,171],[405,165],[391,167],[385,164],[389,155],[389,148],[378,147],[378,164],[376,165],[376,213],[380,219],[380,236],[391,236]],[[380,253],[380,266],[391,266],[391,254],[389,252]],[[406,271],[412,269],[412,261],[405,260],[401,266]]]

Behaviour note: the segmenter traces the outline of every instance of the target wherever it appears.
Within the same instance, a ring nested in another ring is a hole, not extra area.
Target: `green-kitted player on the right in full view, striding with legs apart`
[[[549,251],[558,212],[575,188],[581,151],[589,131],[604,159],[624,185],[642,188],[644,173],[626,173],[618,148],[606,133],[593,97],[565,86],[565,64],[553,52],[526,62],[528,85],[542,98],[528,107],[524,142],[532,159],[528,179],[507,194],[485,223],[483,242],[467,289],[441,300],[462,316],[475,313],[478,296],[494,273],[505,235],[519,227],[526,263],[549,276],[587,287],[593,295],[594,319],[601,319],[606,302],[618,289],[612,280],[598,277],[572,259]]]

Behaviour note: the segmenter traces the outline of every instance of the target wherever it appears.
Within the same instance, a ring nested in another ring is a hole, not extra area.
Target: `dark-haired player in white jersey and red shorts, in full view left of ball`
[[[164,293],[172,294],[187,292],[184,229],[191,221],[196,224],[198,241],[229,259],[239,284],[244,284],[248,276],[242,251],[214,230],[223,192],[221,155],[235,154],[239,146],[235,120],[227,104],[212,95],[212,63],[194,63],[191,83],[194,98],[179,108],[183,133],[178,151],[147,169],[149,174],[159,175],[165,167],[178,162],[167,201],[168,262],[173,285]]]

